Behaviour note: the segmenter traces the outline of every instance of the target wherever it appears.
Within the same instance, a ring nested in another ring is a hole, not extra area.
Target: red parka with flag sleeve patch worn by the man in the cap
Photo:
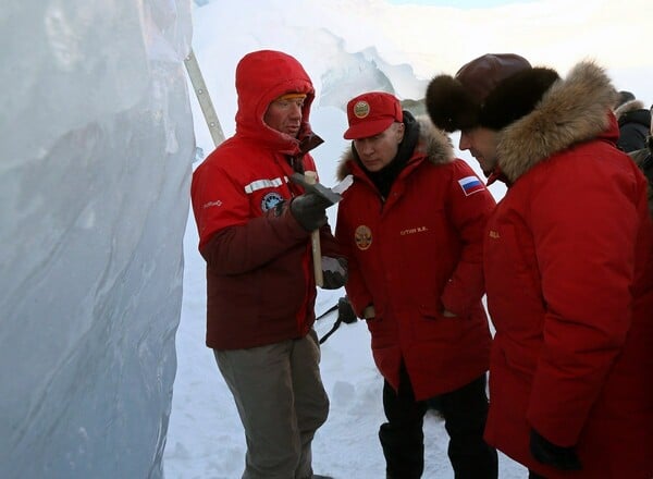
[[[418,401],[488,370],[491,335],[481,304],[482,234],[494,199],[453,156],[448,138],[421,122],[407,165],[382,200],[349,153],[340,176],[354,184],[338,204],[336,238],[349,263],[347,295],[368,321],[374,361],[396,389],[402,359]],[[465,183],[465,182],[464,182]],[[458,315],[442,316],[444,309]]]

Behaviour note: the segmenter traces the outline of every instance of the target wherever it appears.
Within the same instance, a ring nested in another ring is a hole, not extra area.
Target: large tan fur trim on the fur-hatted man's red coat
[[[552,155],[603,135],[618,135],[609,112],[617,91],[605,70],[578,63],[555,81],[534,109],[498,133],[498,167],[510,183]]]

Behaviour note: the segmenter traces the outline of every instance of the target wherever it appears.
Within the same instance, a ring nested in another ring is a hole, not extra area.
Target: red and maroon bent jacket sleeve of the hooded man
[[[199,231],[199,250],[221,274],[257,269],[300,243],[309,233],[297,223],[287,201],[251,217],[249,198],[220,168],[198,168],[190,195]]]

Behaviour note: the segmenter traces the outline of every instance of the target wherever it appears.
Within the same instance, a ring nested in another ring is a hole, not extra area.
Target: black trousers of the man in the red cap
[[[496,451],[483,441],[488,417],[485,374],[469,384],[436,396],[449,435],[448,457],[456,479],[496,479]],[[423,418],[429,402],[415,401],[412,385],[402,365],[399,390],[385,381],[383,409],[387,422],[381,425],[379,439],[385,456],[387,479],[417,479],[424,469]]]

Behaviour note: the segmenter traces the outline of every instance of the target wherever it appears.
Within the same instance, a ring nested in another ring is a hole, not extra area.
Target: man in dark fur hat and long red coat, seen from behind
[[[653,224],[615,99],[593,62],[560,78],[516,54],[427,89],[433,122],[508,185],[483,251],[485,439],[531,478],[653,477]]]

